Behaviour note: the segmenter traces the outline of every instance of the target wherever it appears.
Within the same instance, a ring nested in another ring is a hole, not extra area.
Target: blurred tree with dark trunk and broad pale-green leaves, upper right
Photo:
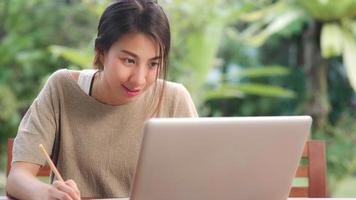
[[[308,75],[306,111],[315,117],[319,127],[327,124],[331,110],[327,83],[331,57],[342,55],[356,91],[355,6],[355,0],[279,0],[241,18],[248,24],[241,36],[257,47],[273,37],[302,38],[303,65]]]

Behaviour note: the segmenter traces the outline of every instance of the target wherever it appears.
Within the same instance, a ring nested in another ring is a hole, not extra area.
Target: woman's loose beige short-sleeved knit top
[[[162,84],[157,81],[156,84]],[[135,101],[112,106],[82,91],[67,69],[53,73],[23,117],[13,162],[46,163],[44,144],[64,179],[86,197],[127,197],[153,86]],[[196,117],[181,84],[166,82],[158,117]]]

